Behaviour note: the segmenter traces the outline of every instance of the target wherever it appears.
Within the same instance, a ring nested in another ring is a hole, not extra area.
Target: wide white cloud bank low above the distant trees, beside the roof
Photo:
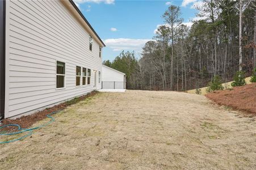
[[[142,47],[150,39],[106,39],[104,44],[111,48],[113,51],[134,50],[141,52]]]

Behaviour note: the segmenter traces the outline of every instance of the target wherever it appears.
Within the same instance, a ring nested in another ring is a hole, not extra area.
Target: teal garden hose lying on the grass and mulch
[[[0,141],[0,144],[19,141],[19,140],[21,140],[21,139],[24,139],[24,138],[26,138],[26,137],[32,135],[33,130],[39,129],[39,128],[43,128],[44,126],[47,126],[47,125],[51,124],[52,122],[54,122],[55,119],[54,119],[54,117],[52,117],[51,115],[52,115],[52,114],[56,114],[56,113],[58,113],[58,112],[60,112],[60,111],[62,111],[62,110],[63,110],[63,109],[58,110],[58,111],[54,111],[54,112],[52,112],[52,113],[47,114],[47,117],[48,117],[48,118],[51,118],[51,120],[50,120],[49,122],[47,122],[46,124],[37,126],[37,127],[35,127],[35,128],[30,128],[30,129],[20,128],[20,126],[17,125],[17,124],[9,124],[9,125],[1,126],[0,129],[5,128],[5,127],[9,127],[9,126],[16,126],[16,127],[18,128],[18,131],[15,131],[15,132],[13,132],[13,133],[0,133],[0,135],[16,135],[16,134],[20,134],[20,133],[24,133],[24,132],[29,132],[29,133],[26,134],[26,135],[23,135],[22,137],[19,137],[19,138],[16,138],[16,139],[12,139],[12,140],[10,140],[10,141],[3,141],[3,142]]]

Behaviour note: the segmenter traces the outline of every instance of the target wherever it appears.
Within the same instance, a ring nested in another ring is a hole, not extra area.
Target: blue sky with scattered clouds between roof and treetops
[[[141,47],[154,36],[157,27],[163,24],[162,14],[168,6],[181,7],[184,24],[196,20],[194,6],[200,0],[181,1],[121,1],[121,0],[75,0],[85,18],[106,44],[103,60],[111,61],[121,50],[135,50],[140,57]]]

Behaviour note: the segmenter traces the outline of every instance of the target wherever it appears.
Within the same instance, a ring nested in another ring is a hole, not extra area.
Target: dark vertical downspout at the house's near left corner
[[[0,120],[5,117],[5,17],[6,1],[0,1]]]

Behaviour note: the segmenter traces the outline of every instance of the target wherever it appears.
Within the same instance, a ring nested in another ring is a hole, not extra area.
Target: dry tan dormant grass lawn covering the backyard
[[[1,169],[256,169],[255,118],[201,95],[100,93],[55,117],[0,145]]]

